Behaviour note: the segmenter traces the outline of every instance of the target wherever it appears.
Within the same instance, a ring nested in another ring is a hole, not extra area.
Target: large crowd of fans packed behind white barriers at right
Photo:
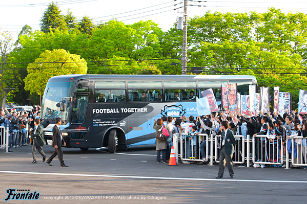
[[[190,160],[197,159],[197,152],[200,152],[200,156],[202,157],[202,162],[199,164],[203,164],[206,161],[206,138],[204,137],[195,137],[199,133],[206,133],[208,135],[219,135],[221,134],[220,124],[222,121],[229,122],[229,129],[233,131],[234,135],[242,135],[242,138],[247,139],[247,135],[250,135],[250,138],[255,136],[255,151],[258,152],[255,157],[258,162],[270,162],[270,163],[280,163],[281,160],[281,148],[283,148],[283,152],[285,154],[287,147],[286,138],[291,139],[294,136],[302,136],[303,138],[307,137],[307,117],[304,114],[298,114],[293,111],[293,114],[283,114],[280,116],[279,112],[273,112],[268,114],[263,114],[261,111],[259,113],[256,111],[253,114],[250,111],[250,116],[244,117],[238,110],[229,112],[228,114],[224,112],[216,112],[215,114],[211,114],[208,116],[197,116],[194,119],[193,116],[186,118],[185,116],[181,116],[180,118],[172,117],[162,117],[165,125],[170,124],[169,128],[170,135],[174,133],[187,133],[182,135],[183,139],[183,158],[189,158]],[[266,135],[265,137],[256,137],[256,135]],[[237,144],[239,137],[237,139]],[[217,141],[218,142],[218,141]],[[291,141],[290,141],[291,142]],[[295,140],[295,144],[297,147],[297,158],[296,160],[300,160],[304,164],[307,164],[306,158],[306,139]],[[279,145],[281,144],[281,145]],[[210,143],[209,143],[210,145]],[[167,148],[170,148],[172,144],[167,143]],[[215,145],[214,145],[215,146]],[[218,148],[219,148],[218,144]],[[180,145],[179,145],[180,147]],[[210,149],[210,146],[208,147]],[[214,148],[214,147],[213,147]],[[241,156],[246,157],[247,154],[247,145],[245,145],[245,155],[240,155],[240,151],[242,149],[241,146],[237,148],[237,157]],[[250,146],[250,152],[252,152],[252,145]],[[209,151],[210,152],[210,151]],[[242,153],[242,151],[241,151]],[[166,152],[167,159],[169,158],[169,151]],[[157,161],[159,162],[157,155]],[[198,159],[201,159],[198,158]],[[283,155],[285,157],[285,155]],[[291,158],[291,156],[290,156]],[[234,158],[233,160],[237,161],[238,158]],[[243,159],[244,160],[244,159]],[[241,160],[242,161],[242,160]],[[190,163],[189,161],[182,161],[182,163]],[[247,164],[240,164],[238,166],[245,167]],[[273,166],[273,165],[272,165]],[[285,165],[274,165],[276,167],[285,167]],[[254,167],[264,168],[264,164],[254,164]],[[299,166],[293,168],[300,168]],[[304,169],[307,169],[305,167]]]

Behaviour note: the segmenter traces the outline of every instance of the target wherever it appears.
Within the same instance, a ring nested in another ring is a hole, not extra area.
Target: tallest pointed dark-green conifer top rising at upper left
[[[52,2],[40,19],[40,31],[48,33],[55,29],[66,29],[65,17],[59,7]]]

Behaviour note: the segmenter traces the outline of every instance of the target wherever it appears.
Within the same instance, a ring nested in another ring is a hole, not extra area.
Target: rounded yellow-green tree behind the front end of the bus
[[[35,59],[34,63],[28,65],[28,76],[24,79],[25,89],[31,94],[37,93],[42,96],[50,77],[86,74],[87,69],[87,62],[78,55],[70,54],[63,49],[46,50]]]

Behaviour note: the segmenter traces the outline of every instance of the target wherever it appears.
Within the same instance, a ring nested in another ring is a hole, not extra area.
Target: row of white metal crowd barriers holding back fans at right
[[[193,135],[193,134],[192,134]],[[246,162],[247,167],[252,164],[258,165],[283,165],[285,168],[289,168],[289,162],[293,166],[307,166],[307,138],[294,137],[292,138],[292,153],[291,158],[289,158],[289,151],[286,148],[285,157],[284,150],[281,139],[275,140],[271,138],[272,135],[256,135],[250,138],[250,135],[247,135],[247,139],[244,139],[243,135],[235,135],[237,144],[235,151],[233,153],[233,163],[234,164],[243,164]],[[219,156],[219,140],[221,135],[209,135],[207,134],[198,134],[195,137],[198,137],[196,146],[191,146],[192,140],[183,140],[183,138],[189,137],[187,133],[182,133],[178,140],[180,142],[180,154],[176,154],[176,159],[178,162],[178,156],[180,156],[181,161],[190,161],[190,162],[201,162],[202,156],[200,153],[200,144],[203,141],[206,141],[206,160],[209,162],[208,165],[213,166],[213,163],[218,163]],[[304,142],[298,142],[302,140]],[[297,142],[295,142],[297,141]],[[286,140],[288,143],[288,139]],[[251,147],[252,145],[252,147]],[[212,148],[211,148],[212,147]],[[178,147],[176,148],[178,152]],[[294,149],[301,152],[301,155],[296,158]],[[176,150],[175,150],[176,151]],[[195,155],[191,154],[191,151],[195,152]],[[195,157],[195,158],[193,158]]]

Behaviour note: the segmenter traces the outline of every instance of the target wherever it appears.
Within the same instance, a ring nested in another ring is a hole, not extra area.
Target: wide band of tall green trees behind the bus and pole
[[[41,19],[43,32],[25,27],[19,49],[11,53],[12,62],[24,62],[14,65],[25,73],[19,76],[24,79],[31,62],[54,49],[84,58],[89,74],[181,74],[182,31],[175,25],[163,32],[151,20],[96,26],[84,16],[78,22],[71,11],[63,15],[50,4]],[[306,29],[303,13],[207,11],[188,20],[188,67],[202,67],[203,74],[254,75],[259,85],[278,85],[297,102],[299,88],[305,88]]]

